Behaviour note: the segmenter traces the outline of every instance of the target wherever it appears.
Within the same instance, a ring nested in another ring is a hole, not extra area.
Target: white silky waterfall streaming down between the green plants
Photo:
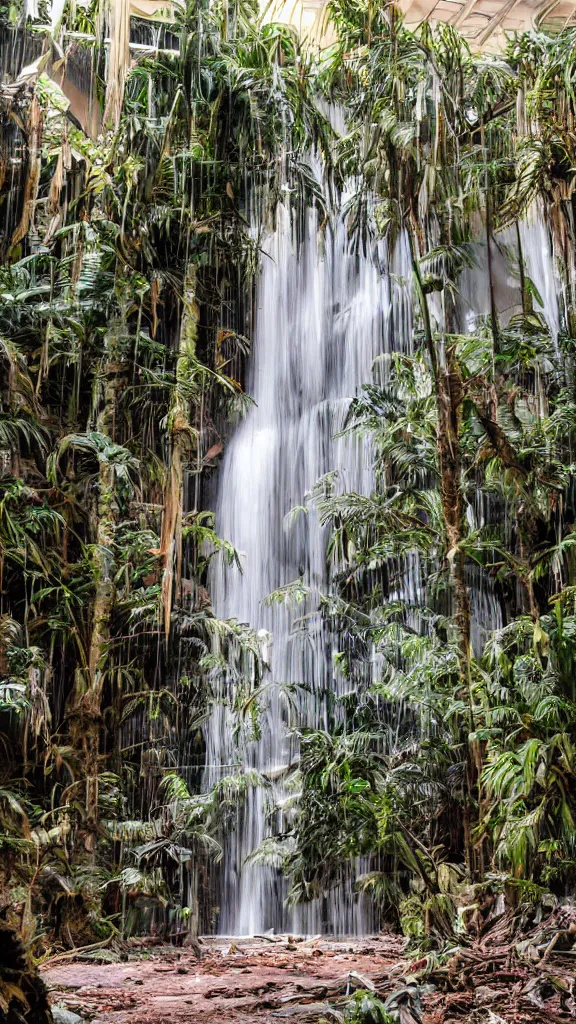
[[[558,330],[558,307],[549,247],[543,227],[523,227],[526,265],[537,287],[544,285],[545,315],[551,333]],[[262,631],[271,686],[262,697],[260,734],[237,743],[233,715],[221,700],[214,702],[207,727],[205,783],[222,772],[255,770],[270,787],[249,790],[238,812],[235,831],[227,836],[221,866],[218,929],[221,934],[277,931],[363,933],[372,927],[370,907],[355,897],[354,885],[334,892],[322,905],[287,910],[285,888],[278,870],[246,861],[262,841],[282,830],[284,778],[297,761],[290,727],[295,723],[286,688],[298,691],[298,724],[325,728],[327,694],[345,689],[333,663],[332,637],[318,613],[318,595],[330,589],[327,536],[313,508],[295,519],[287,513],[300,506],[320,477],[338,472],[338,487],[368,494],[373,486],[371,453],[365,440],[337,437],[351,399],[373,379],[378,356],[409,351],[412,344],[411,265],[406,241],[400,239],[392,258],[383,250],[355,254],[341,220],[323,240],[318,218],[307,215],[304,237],[296,246],[288,210],[278,209],[276,230],[263,246],[258,284],[256,329],[249,369],[248,415],[228,446],[217,500],[217,529],[242,555],[244,573],[216,566],[211,579],[212,601],[220,618],[235,617]],[[498,254],[496,254],[498,255]],[[504,313],[518,303],[518,284],[505,269],[502,254],[498,305]],[[472,329],[477,314],[489,310],[486,254],[479,247],[475,269],[462,280],[463,318]],[[376,361],[375,361],[376,360]],[[468,515],[477,523],[490,516],[482,496]],[[408,600],[421,595],[417,559],[407,560]],[[310,599],[290,609],[266,605],[271,592],[300,580]],[[484,631],[501,625],[499,608],[482,581],[472,587],[472,641],[482,645]],[[484,588],[484,589],[483,589]],[[295,628],[295,620],[298,620]],[[269,637],[270,635],[270,641]]]

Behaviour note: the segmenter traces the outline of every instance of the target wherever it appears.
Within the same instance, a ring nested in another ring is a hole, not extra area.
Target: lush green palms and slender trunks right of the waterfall
[[[374,493],[329,477],[310,496],[332,529],[325,612],[349,693],[331,734],[302,735],[285,862],[298,900],[368,855],[361,887],[408,934],[442,936],[464,882],[574,885],[575,37],[484,56],[450,27],[330,9],[351,234],[408,246],[414,328],[348,415],[374,446]],[[529,270],[540,218],[558,334]]]

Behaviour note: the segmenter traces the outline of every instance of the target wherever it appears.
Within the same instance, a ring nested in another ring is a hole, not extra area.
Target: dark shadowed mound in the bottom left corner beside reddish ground
[[[14,929],[1,920],[0,1020],[3,1024],[22,1024],[23,1021],[53,1024],[46,986]]]

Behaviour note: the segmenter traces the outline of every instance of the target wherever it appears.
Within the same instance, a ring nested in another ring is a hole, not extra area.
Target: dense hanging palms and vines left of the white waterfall
[[[212,927],[207,865],[254,780],[201,793],[203,721],[222,672],[241,703],[262,666],[210,604],[238,556],[202,479],[247,400],[253,228],[329,135],[296,37],[250,4],[191,4],[177,49],[127,69],[70,42],[96,25],[75,10],[35,61],[24,11],[1,30],[29,67],[2,87],[0,899],[36,952]],[[58,40],[94,102],[117,76],[97,138]]]

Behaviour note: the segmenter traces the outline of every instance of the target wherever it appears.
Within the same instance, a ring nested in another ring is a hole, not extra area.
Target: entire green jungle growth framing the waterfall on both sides
[[[247,707],[263,667],[250,626],[210,605],[210,560],[238,556],[204,480],[247,400],[253,228],[286,196],[296,224],[306,204],[324,217],[351,178],[351,245],[408,246],[413,327],[348,415],[374,493],[330,477],[308,496],[349,692],[331,731],[302,730],[273,858],[294,901],[370,858],[362,887],[417,937],[457,927],[463,880],[574,885],[576,35],[493,57],[386,5],[330,13],[314,57],[249,4],[190,4],[178,49],[135,59],[114,95],[118,54],[106,81],[85,44],[108,86],[96,139],[55,84],[57,39],[2,87],[0,909],[37,952],[213,927],[209,863],[258,779],[202,793],[203,722],[219,674]],[[24,15],[2,17],[34,51]]]

